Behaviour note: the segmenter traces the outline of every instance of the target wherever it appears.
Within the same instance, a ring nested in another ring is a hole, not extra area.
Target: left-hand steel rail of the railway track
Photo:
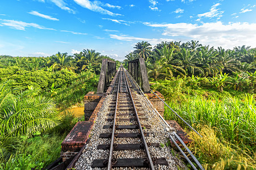
[[[118,80],[118,87],[117,87],[117,101],[118,101],[118,93],[119,93],[119,87],[120,87],[120,81],[121,81],[121,69],[119,73],[119,80]],[[114,91],[114,90],[113,90]],[[112,159],[113,159],[113,151],[114,151],[114,137],[115,137],[115,122],[117,118],[117,101],[115,102],[115,113],[114,113],[114,121],[113,121],[113,128],[112,128],[112,137],[110,142],[110,150],[109,150],[109,162],[108,162],[108,170],[112,168]]]

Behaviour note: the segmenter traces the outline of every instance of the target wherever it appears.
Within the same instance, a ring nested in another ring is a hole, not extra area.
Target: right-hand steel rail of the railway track
[[[125,73],[125,72],[124,72]],[[123,74],[125,75],[125,74]],[[125,80],[126,80],[126,84],[128,84],[127,82],[127,79],[126,79],[126,75],[125,75]],[[149,162],[149,167],[151,170],[154,170],[154,163],[152,161],[152,158],[150,156],[150,152],[148,150],[148,146],[147,146],[147,142],[146,142],[146,138],[144,136],[144,133],[143,133],[143,129],[142,129],[142,126],[141,126],[141,122],[139,121],[139,116],[138,116],[138,113],[137,113],[137,109],[135,108],[135,104],[134,104],[134,100],[133,100],[133,96],[131,95],[131,90],[130,90],[130,87],[127,86],[127,89],[129,91],[129,94],[130,94],[130,97],[131,97],[131,101],[133,103],[133,107],[134,107],[134,111],[135,111],[135,115],[136,115],[136,118],[137,118],[137,121],[138,121],[138,125],[139,125],[139,130],[141,131],[141,136],[142,136],[142,141],[143,141],[143,145],[144,145],[144,148],[146,150],[146,155],[147,155],[147,159],[148,159],[148,162]]]

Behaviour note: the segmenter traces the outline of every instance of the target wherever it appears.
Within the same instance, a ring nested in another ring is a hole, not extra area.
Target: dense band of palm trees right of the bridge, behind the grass
[[[236,90],[250,90],[249,83],[243,83],[248,81],[248,77],[236,79],[236,75],[246,72],[252,74],[256,71],[256,50],[245,45],[235,47],[234,50],[225,50],[221,47],[214,49],[213,47],[210,48],[209,45],[202,46],[199,41],[193,40],[182,44],[176,41],[166,41],[157,44],[151,50],[151,45],[142,41],[138,42],[134,48],[133,52],[126,55],[127,59],[123,65],[127,67],[128,61],[138,57],[144,58],[148,77],[155,81],[171,80],[172,76],[213,78],[213,86],[219,91],[223,91],[226,83],[229,82],[225,79],[230,79]],[[229,76],[226,78],[225,75],[228,74]],[[236,84],[237,80],[241,83]],[[256,85],[253,88],[255,92]]]

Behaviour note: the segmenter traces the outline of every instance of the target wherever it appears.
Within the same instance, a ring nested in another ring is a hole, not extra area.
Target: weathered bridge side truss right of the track
[[[128,62],[128,71],[144,92],[150,91],[147,69],[143,58],[134,59]]]

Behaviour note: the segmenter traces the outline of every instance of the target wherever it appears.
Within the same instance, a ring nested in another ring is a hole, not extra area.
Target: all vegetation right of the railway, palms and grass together
[[[145,59],[151,89],[203,135],[189,133],[205,169],[256,168],[256,49],[214,49],[199,41],[162,42],[153,49],[142,41],[134,48],[125,65]],[[168,108],[164,118],[187,129]]]

